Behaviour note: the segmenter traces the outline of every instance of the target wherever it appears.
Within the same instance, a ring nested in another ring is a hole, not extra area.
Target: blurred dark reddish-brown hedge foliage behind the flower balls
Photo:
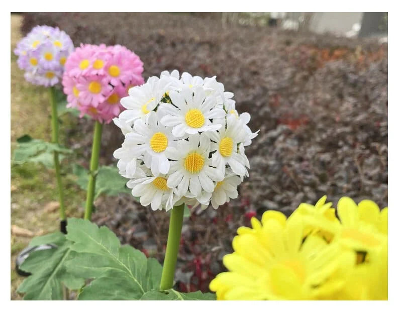
[[[248,147],[250,177],[238,199],[218,211],[196,210],[185,219],[176,278],[178,289],[208,291],[224,269],[236,229],[266,210],[290,214],[300,202],[327,194],[387,205],[387,45],[328,35],[228,25],[219,18],[188,14],[27,14],[23,31],[59,26],[77,46],[122,44],[144,62],[145,78],[178,69],[213,76],[235,94],[239,112],[260,129]],[[91,133],[81,120],[68,129],[68,145],[88,166]],[[101,162],[123,140],[106,126]],[[101,197],[93,221],[109,226],[122,243],[163,260],[168,215],[143,208],[132,196]],[[211,225],[210,225],[211,224]]]

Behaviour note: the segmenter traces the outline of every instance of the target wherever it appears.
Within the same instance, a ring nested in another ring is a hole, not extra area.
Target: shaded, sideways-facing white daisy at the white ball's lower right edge
[[[231,198],[237,198],[237,186],[241,183],[241,178],[234,174],[231,170],[226,172],[224,180],[217,182],[211,197],[211,205],[215,210],[220,205],[229,202]],[[202,208],[206,209],[208,204],[202,204]]]

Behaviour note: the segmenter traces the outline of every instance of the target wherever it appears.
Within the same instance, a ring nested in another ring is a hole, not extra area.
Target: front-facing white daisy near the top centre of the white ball
[[[169,96],[173,105],[161,105],[159,112],[162,111],[165,115],[161,118],[161,123],[173,127],[174,136],[216,131],[221,127],[212,124],[210,119],[224,118],[225,111],[216,107],[215,97],[206,96],[202,86],[184,86],[180,92],[171,90]]]

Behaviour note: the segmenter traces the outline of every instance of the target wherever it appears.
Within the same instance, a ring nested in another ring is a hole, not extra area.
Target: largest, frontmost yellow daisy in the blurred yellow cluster
[[[354,265],[354,253],[317,235],[304,239],[300,215],[286,220],[271,211],[251,224],[239,228],[235,252],[223,259],[229,271],[210,283],[218,299],[327,299],[342,290],[340,270]]]

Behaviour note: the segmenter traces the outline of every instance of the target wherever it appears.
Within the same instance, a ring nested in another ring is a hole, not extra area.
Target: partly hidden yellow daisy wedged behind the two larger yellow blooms
[[[338,219],[335,216],[335,209],[332,208],[332,202],[326,203],[327,196],[324,195],[320,198],[316,205],[311,205],[308,203],[301,203],[297,209],[290,216],[306,216],[310,218],[315,218],[315,223],[318,222],[318,219],[321,218],[325,221],[329,221],[331,223],[339,223]],[[317,234],[320,237],[323,237],[327,242],[330,242],[333,238],[333,234],[328,232],[327,230],[322,230],[321,228],[315,225],[307,225],[305,227],[304,236],[308,236],[309,234]]]

